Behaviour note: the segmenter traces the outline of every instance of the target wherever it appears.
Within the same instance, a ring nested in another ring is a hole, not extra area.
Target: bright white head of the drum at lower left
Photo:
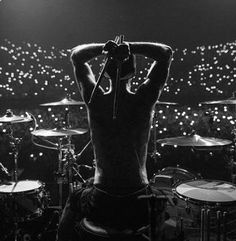
[[[24,180],[18,182],[8,182],[0,185],[0,193],[20,193],[38,189],[42,186],[39,181]]]

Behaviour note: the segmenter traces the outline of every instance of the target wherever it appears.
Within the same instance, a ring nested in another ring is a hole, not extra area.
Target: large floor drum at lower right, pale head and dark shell
[[[191,186],[197,187],[198,183],[199,189],[191,190]],[[231,187],[229,192],[230,196],[227,195],[229,190],[224,192],[224,188],[219,190],[217,190],[217,188],[214,189],[214,187],[210,188],[210,184],[212,183],[219,183],[219,186],[221,185],[221,187]],[[207,186],[209,186],[209,190],[207,189]],[[181,187],[183,188],[181,189]],[[206,192],[203,192],[202,190]],[[208,179],[186,181],[176,185],[176,187],[173,188],[173,193],[175,197],[185,202],[187,210],[192,213],[192,226],[184,223],[184,230],[189,238],[192,238],[193,240],[194,237],[199,238],[201,225],[203,222],[205,222],[205,224],[208,222],[210,240],[216,240],[218,229],[220,229],[221,235],[223,232],[222,230],[225,229],[230,233],[230,235],[228,235],[231,238],[230,240],[236,239],[236,186],[233,183]],[[200,195],[201,193],[202,196]],[[194,194],[198,196],[198,199],[193,198]],[[213,200],[214,198],[215,201]],[[201,219],[201,211],[203,210],[205,211],[204,221]]]

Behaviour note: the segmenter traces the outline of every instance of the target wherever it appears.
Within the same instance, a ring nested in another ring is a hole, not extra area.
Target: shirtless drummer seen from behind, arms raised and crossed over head
[[[104,53],[112,59],[106,71],[110,90],[104,92],[99,87],[90,101],[96,80],[88,61]],[[143,84],[133,93],[129,89],[133,70],[127,71],[125,62],[135,55],[154,62]],[[65,206],[58,230],[60,241],[69,240],[76,218],[88,217],[118,229],[137,229],[147,224],[147,204],[138,196],[148,193],[146,157],[152,110],[168,78],[171,59],[169,46],[152,42],[108,41],[73,49],[71,60],[88,111],[96,167],[92,187],[72,195]],[[114,118],[118,64],[121,80]]]

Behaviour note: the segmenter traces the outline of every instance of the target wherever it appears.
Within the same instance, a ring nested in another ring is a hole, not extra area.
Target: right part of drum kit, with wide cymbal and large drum
[[[171,104],[175,103],[169,103],[169,105]],[[207,101],[201,104],[236,105],[236,98],[234,96],[226,100]],[[235,131],[232,133],[235,135]],[[161,190],[168,197],[168,218],[165,222],[167,226],[166,240],[236,240],[235,140],[235,136],[231,141],[202,137],[195,132],[186,136],[158,140],[154,135],[154,151],[157,151],[157,144],[180,148],[199,148],[200,150],[229,146],[233,148],[230,163],[232,182],[204,179],[200,174],[189,172],[179,166],[165,167],[158,173],[154,173],[150,185],[154,191]],[[207,167],[204,168],[207,169]],[[171,232],[171,230],[174,231]]]

